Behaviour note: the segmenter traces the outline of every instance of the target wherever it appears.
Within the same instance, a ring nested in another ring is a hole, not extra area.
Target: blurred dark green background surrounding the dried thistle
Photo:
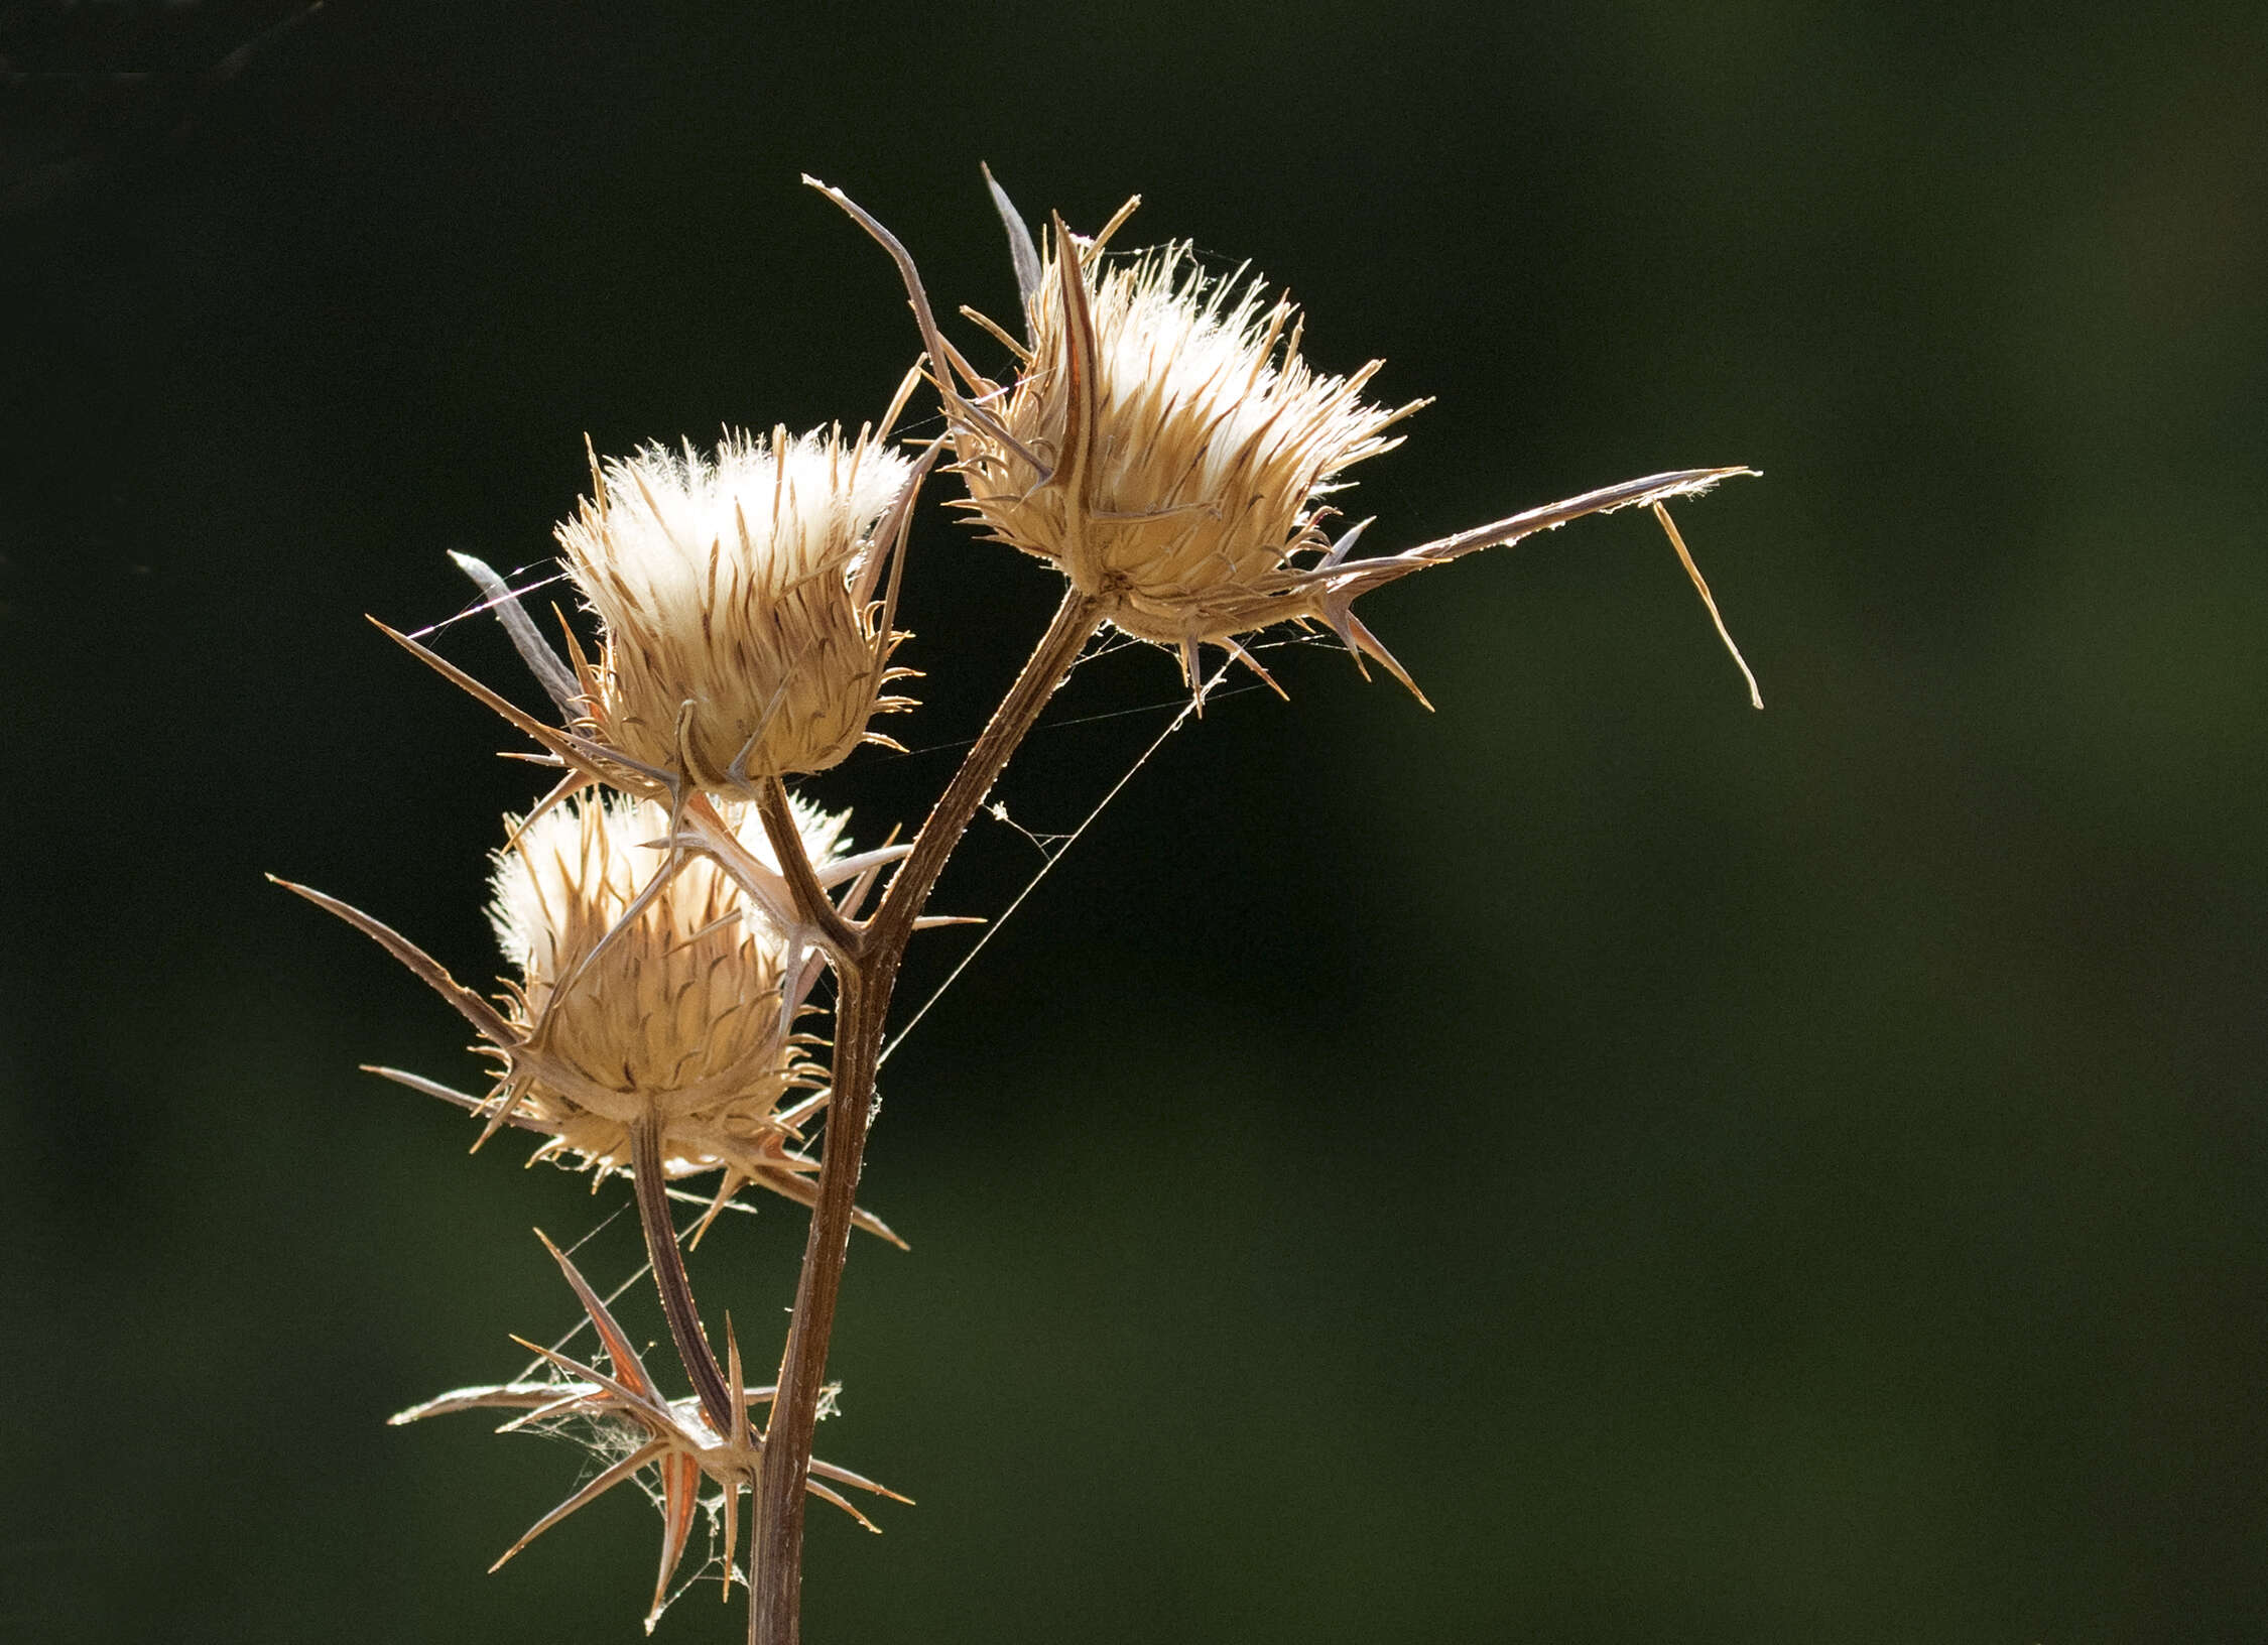
[[[9,1638],[637,1638],[644,1502],[488,1577],[578,1454],[383,1427],[572,1323],[531,1225],[626,1277],[626,1193],[356,1073],[476,1078],[261,874],[490,978],[544,778],[363,613],[540,576],[585,433],[878,415],[896,275],[796,177],[1009,318],[978,161],[1431,395],[1377,549],[1765,470],[1678,517],[1769,710],[1617,515],[1365,606],[1433,715],[1300,644],[1170,737],[885,1073],[912,1252],[821,1454],[919,1507],[812,1509],[810,1636],[2268,1638],[2259,7],[14,0],[0,57]],[[1055,590],[923,517],[860,837]],[[1175,699],[1084,667],[1014,821]],[[1041,860],[982,821],[941,905]],[[776,1343],[801,1239],[723,1223],[710,1318]]]

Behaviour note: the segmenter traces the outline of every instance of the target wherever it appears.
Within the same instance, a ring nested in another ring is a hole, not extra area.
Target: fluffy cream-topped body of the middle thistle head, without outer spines
[[[887,694],[905,676],[896,576],[878,588],[916,483],[873,429],[594,461],[558,529],[606,626],[581,669],[590,733],[710,792],[839,762],[875,712],[912,706]]]

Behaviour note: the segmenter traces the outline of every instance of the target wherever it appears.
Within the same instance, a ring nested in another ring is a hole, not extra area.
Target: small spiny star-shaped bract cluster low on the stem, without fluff
[[[662,1563],[653,1584],[653,1606],[646,1613],[646,1631],[651,1634],[669,1604],[669,1579],[685,1559],[694,1513],[701,1509],[703,1482],[719,1486],[719,1500],[712,1507],[723,1518],[726,1597],[730,1597],[733,1547],[739,1541],[739,1493],[755,1488],[755,1473],[764,1457],[764,1441],[748,1423],[748,1407],[769,1404],[776,1391],[742,1384],[739,1341],[728,1336],[730,1386],[737,1391],[737,1398],[733,1400],[730,1432],[719,1434],[703,1414],[701,1400],[671,1400],[662,1393],[631,1343],[631,1336],[615,1323],[612,1311],[590,1289],[590,1282],[567,1259],[567,1252],[544,1239],[542,1230],[535,1237],[558,1259],[567,1284],[574,1287],[576,1298],[583,1302],[583,1311],[599,1334],[599,1345],[606,1348],[608,1370],[569,1359],[556,1348],[540,1348],[515,1336],[513,1341],[538,1355],[553,1370],[551,1377],[456,1389],[424,1404],[413,1404],[388,1420],[399,1427],[449,1411],[522,1411],[522,1416],[497,1432],[569,1432],[608,1461],[583,1488],[535,1520],[517,1543],[503,1550],[503,1557],[490,1570],[503,1566],[506,1559],[576,1509],[651,1468],[655,1475],[651,1495],[662,1511]],[[878,1486],[864,1475],[814,1457],[803,1488],[821,1502],[832,1502],[869,1532],[878,1532],[880,1527],[835,1491],[835,1484],[873,1491],[891,1502],[912,1502],[912,1498]]]

